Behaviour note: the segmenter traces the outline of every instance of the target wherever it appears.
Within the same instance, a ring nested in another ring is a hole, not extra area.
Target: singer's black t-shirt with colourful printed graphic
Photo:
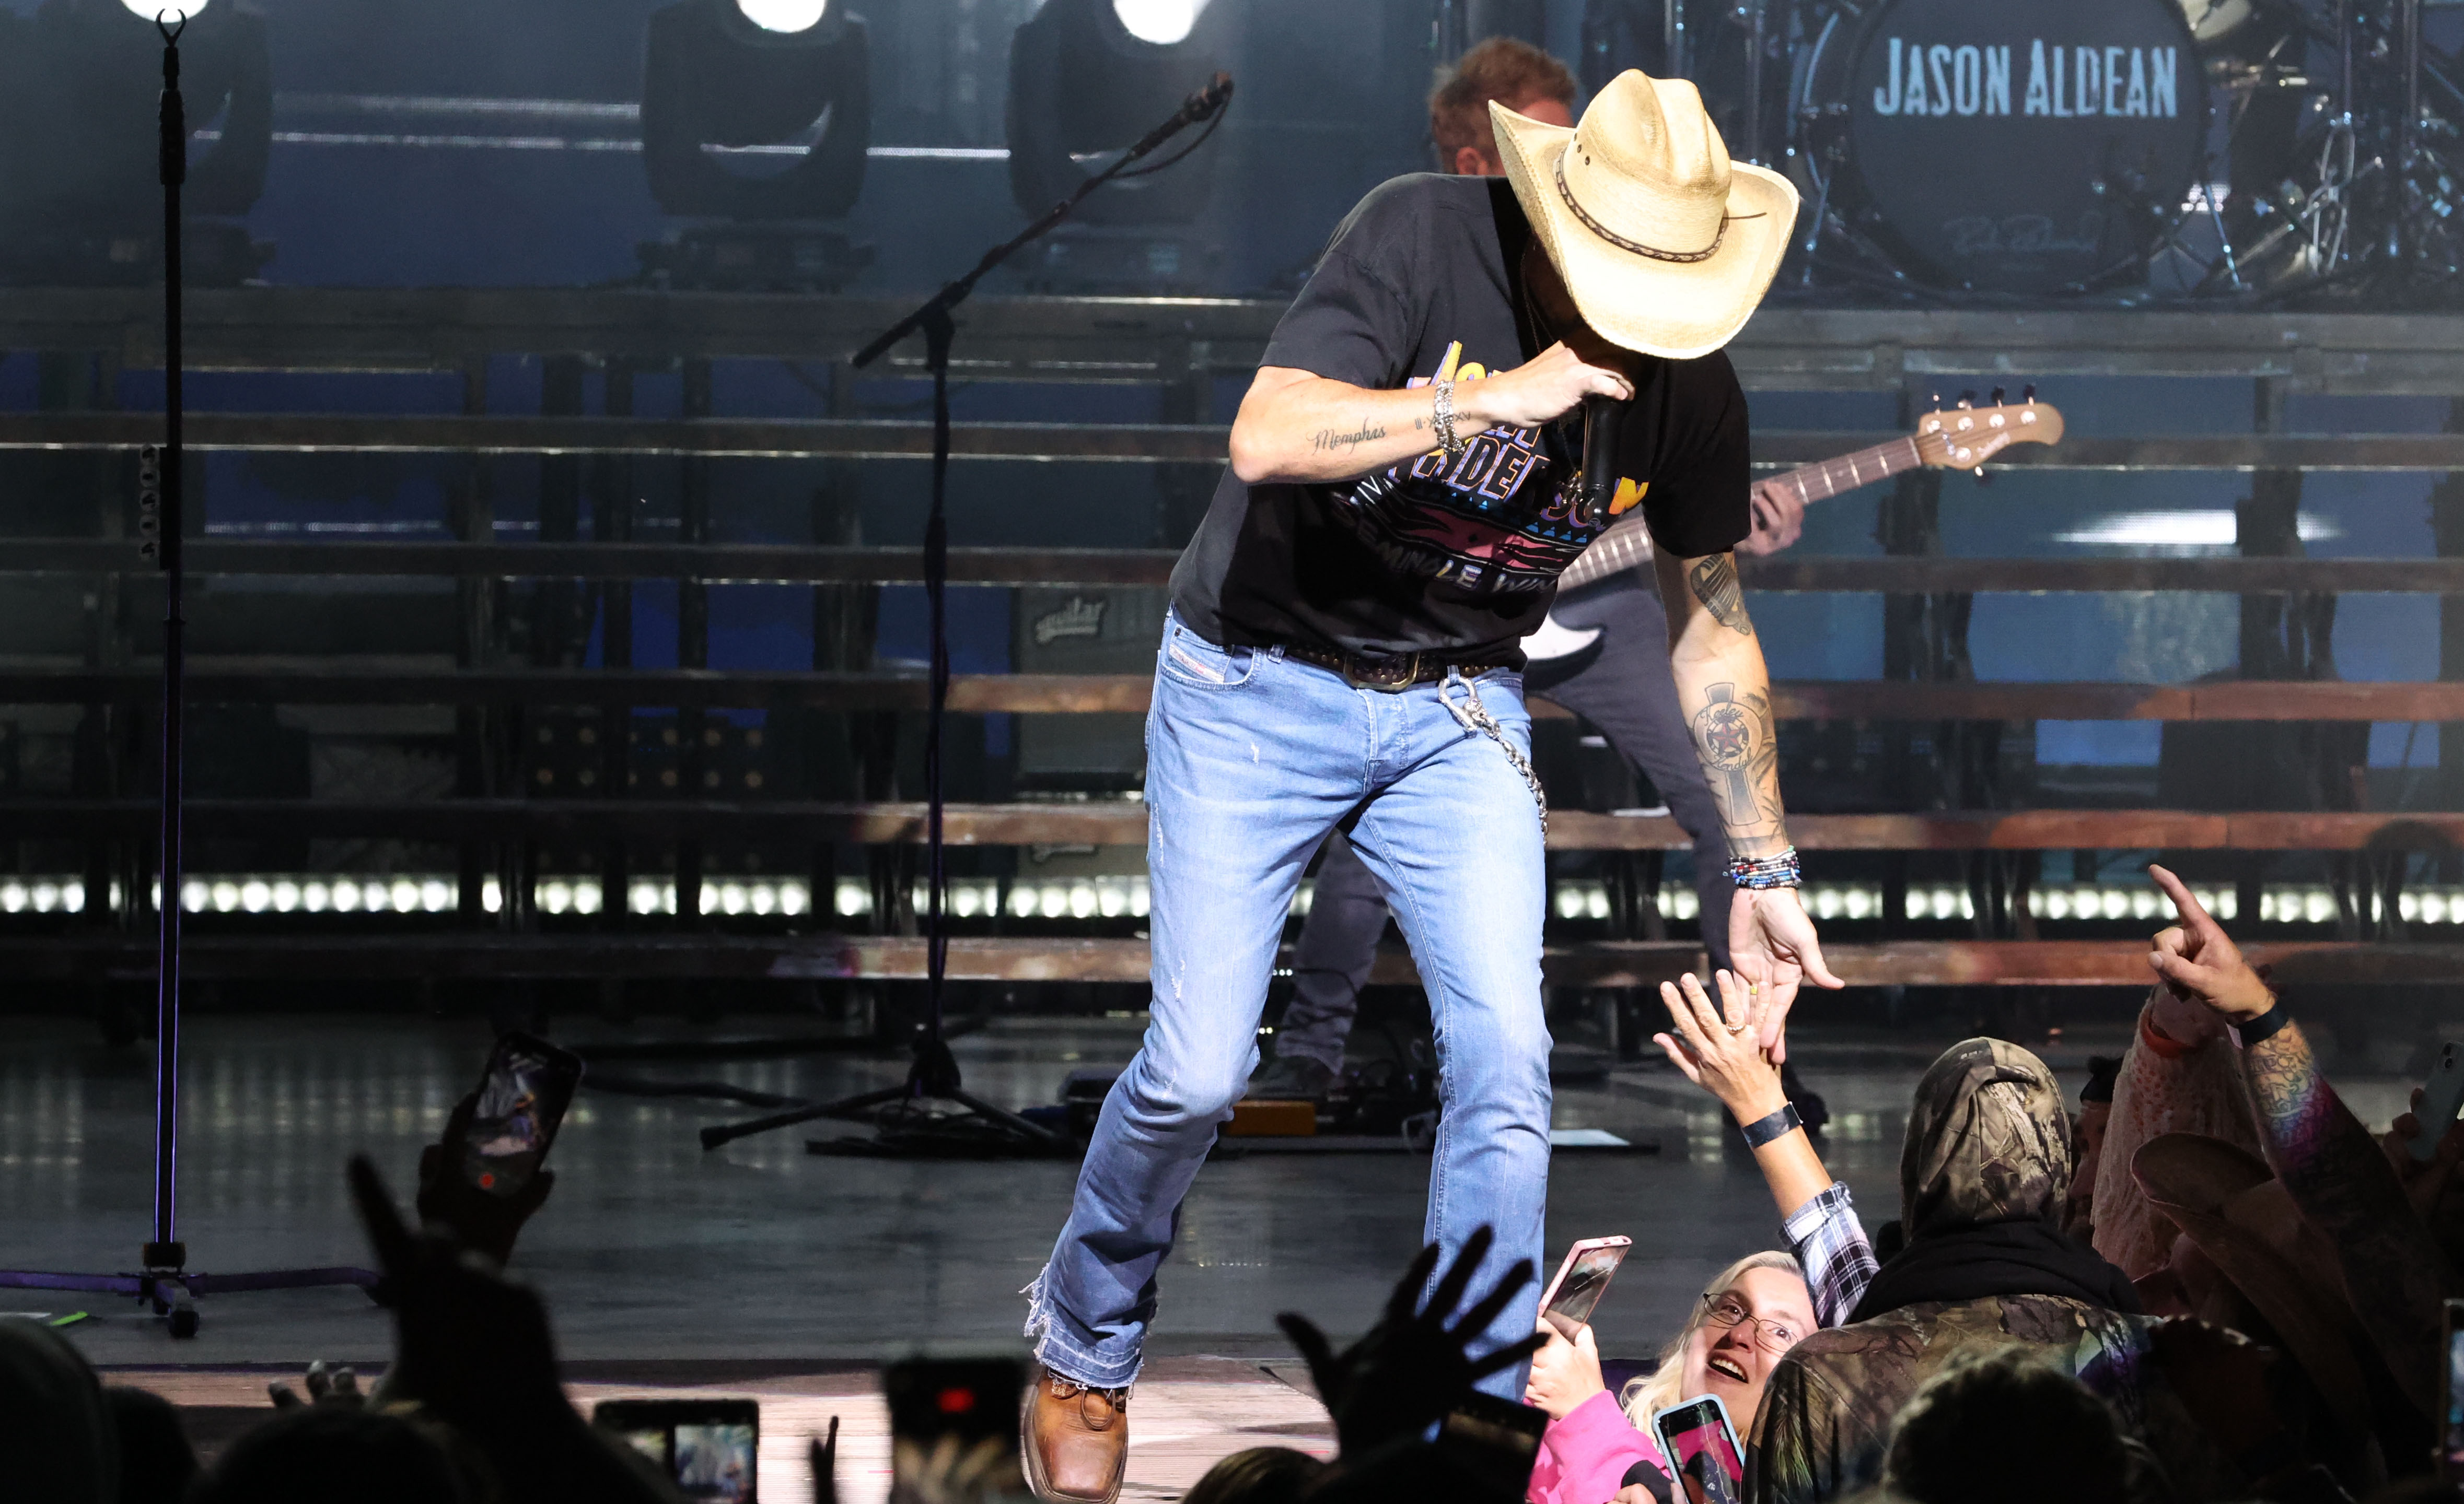
[[[1528,241],[1503,177],[1385,182],[1335,229],[1264,364],[1372,389],[1508,372],[1540,352],[1510,276]],[[1737,372],[1717,352],[1629,369],[1611,517],[1641,507],[1653,544],[1685,559],[1737,546],[1752,527]],[[1557,574],[1604,527],[1572,512],[1579,433],[1579,411],[1496,426],[1456,460],[1333,485],[1242,485],[1227,468],[1173,569],[1173,610],[1222,645],[1520,662]]]

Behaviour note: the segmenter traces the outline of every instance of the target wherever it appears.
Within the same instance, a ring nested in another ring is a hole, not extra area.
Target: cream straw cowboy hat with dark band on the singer
[[[1796,187],[1730,162],[1685,79],[1624,71],[1567,130],[1493,103],[1498,155],[1582,320],[1693,359],[1745,327],[1796,224]]]

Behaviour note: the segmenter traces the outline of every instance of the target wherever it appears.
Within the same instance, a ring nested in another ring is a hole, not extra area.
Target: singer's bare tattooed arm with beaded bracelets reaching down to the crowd
[[[1693,729],[1695,756],[1710,783],[1720,830],[1732,857],[1777,857],[1789,849],[1779,805],[1779,721],[1772,716],[1772,674],[1745,615],[1735,554],[1678,559],[1653,554],[1661,606],[1668,610],[1668,670],[1678,709]],[[1846,987],[1823,965],[1796,889],[1737,889],[1727,911],[1727,948],[1747,982],[1772,992],[1762,1044],[1781,1058],[1781,1026],[1801,980]]]

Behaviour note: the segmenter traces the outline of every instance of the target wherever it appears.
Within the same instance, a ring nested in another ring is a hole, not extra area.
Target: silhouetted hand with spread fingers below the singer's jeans
[[[1464,1238],[1464,1250],[1454,1255],[1454,1268],[1429,1290],[1429,1305],[1419,1305],[1419,1292],[1437,1268],[1439,1246],[1429,1243],[1404,1270],[1387,1300],[1385,1319],[1343,1349],[1333,1351],[1326,1334],[1301,1314],[1284,1312],[1274,1319],[1291,1337],[1308,1361],[1308,1376],[1318,1386],[1318,1398],[1335,1418],[1335,1438],[1345,1457],[1363,1457],[1385,1442],[1419,1438],[1454,1410],[1478,1378],[1510,1369],[1540,1346],[1533,1332],[1523,1342],[1473,1359],[1471,1342],[1498,1319],[1506,1302],[1533,1280],[1533,1260],[1515,1260],[1496,1290],[1481,1297],[1451,1327],[1446,1317],[1464,1302],[1471,1275],[1496,1243],[1491,1228],[1478,1228]]]

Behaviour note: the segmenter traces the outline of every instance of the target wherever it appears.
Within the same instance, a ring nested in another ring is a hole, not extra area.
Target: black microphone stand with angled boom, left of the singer
[[[816,1118],[840,1118],[872,1122],[875,1142],[870,1145],[870,1152],[877,1154],[946,1154],[954,1145],[976,1145],[1000,1154],[1069,1152],[1072,1145],[1040,1122],[1030,1122],[1018,1113],[1008,1113],[983,1098],[968,1095],[958,1078],[958,1061],[949,1054],[949,1039],[941,1019],[941,992],[949,972],[949,871],[941,844],[941,726],[949,711],[949,347],[956,335],[951,310],[976,290],[976,283],[983,281],[988,271],[1037,239],[1052,234],[1052,229],[1062,219],[1069,219],[1087,194],[1104,187],[1114,177],[1136,177],[1136,172],[1126,172],[1131,162],[1146,158],[1198,121],[1207,121],[1207,130],[1200,133],[1198,140],[1183,148],[1180,155],[1156,162],[1153,167],[1143,167],[1141,172],[1161,172],[1205,145],[1207,135],[1215,133],[1215,126],[1222,123],[1222,111],[1230,101],[1232,79],[1227,74],[1215,74],[1205,89],[1180,103],[1180,111],[1170,121],[1156,126],[1141,135],[1136,145],[1121,153],[1119,162],[1077,185],[1077,192],[1052,204],[1042,219],[986,251],[983,258],[976,261],[973,271],[954,283],[946,283],[939,293],[926,298],[922,308],[890,325],[875,335],[870,345],[855,352],[850,364],[862,369],[907,335],[922,332],[924,367],[931,372],[931,512],[924,519],[924,601],[931,615],[931,702],[924,714],[924,1031],[914,1041],[914,1066],[909,1066],[904,1083],[867,1090],[835,1103],[771,1113],[769,1118],[754,1118],[749,1122],[717,1122],[702,1130],[705,1150],[717,1150],[719,1145],[769,1132],[774,1127],[793,1127],[798,1122],[813,1122]],[[956,1103],[958,1110],[922,1110],[922,1103],[929,1100]],[[961,1132],[946,1132],[961,1122],[966,1122]],[[823,1152],[823,1142],[813,1142],[808,1147]]]

